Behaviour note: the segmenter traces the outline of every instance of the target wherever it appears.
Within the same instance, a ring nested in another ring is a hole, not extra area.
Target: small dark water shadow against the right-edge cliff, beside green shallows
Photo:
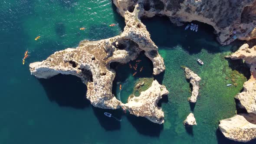
[[[226,59],[226,60],[228,61],[229,67],[232,70],[236,70],[239,73],[242,73],[247,80],[250,79],[250,76],[251,76],[250,68],[245,63],[243,63],[242,59],[237,59],[237,60]]]

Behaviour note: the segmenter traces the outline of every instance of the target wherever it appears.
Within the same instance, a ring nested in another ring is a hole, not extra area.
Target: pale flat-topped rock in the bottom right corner
[[[234,141],[247,142],[256,138],[256,124],[250,123],[241,115],[221,120],[219,128],[225,137]]]

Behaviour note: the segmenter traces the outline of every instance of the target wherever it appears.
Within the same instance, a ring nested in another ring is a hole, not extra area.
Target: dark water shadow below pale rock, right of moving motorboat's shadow
[[[159,137],[164,128],[163,124],[156,124],[149,121],[147,118],[136,117],[135,115],[127,115],[128,121],[136,128],[136,130],[143,135],[151,137]]]

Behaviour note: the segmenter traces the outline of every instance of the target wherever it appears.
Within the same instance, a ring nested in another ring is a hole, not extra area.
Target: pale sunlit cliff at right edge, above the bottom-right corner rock
[[[243,84],[243,92],[235,96],[248,113],[256,114],[256,46],[249,48],[248,44],[241,46],[230,59],[243,59],[250,66],[251,77]]]

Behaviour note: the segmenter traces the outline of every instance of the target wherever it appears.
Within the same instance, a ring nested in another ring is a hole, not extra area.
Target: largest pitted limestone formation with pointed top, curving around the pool
[[[146,27],[138,18],[138,6],[133,13],[125,12],[125,29],[119,36],[99,41],[84,40],[76,49],[55,52],[42,62],[30,64],[30,72],[37,78],[47,79],[54,75],[75,75],[87,85],[87,95],[92,105],[98,108],[119,108],[112,94],[112,82],[115,71],[111,62],[127,63],[144,54],[153,62],[153,74],[164,71],[163,58],[158,47],[150,39]]]

